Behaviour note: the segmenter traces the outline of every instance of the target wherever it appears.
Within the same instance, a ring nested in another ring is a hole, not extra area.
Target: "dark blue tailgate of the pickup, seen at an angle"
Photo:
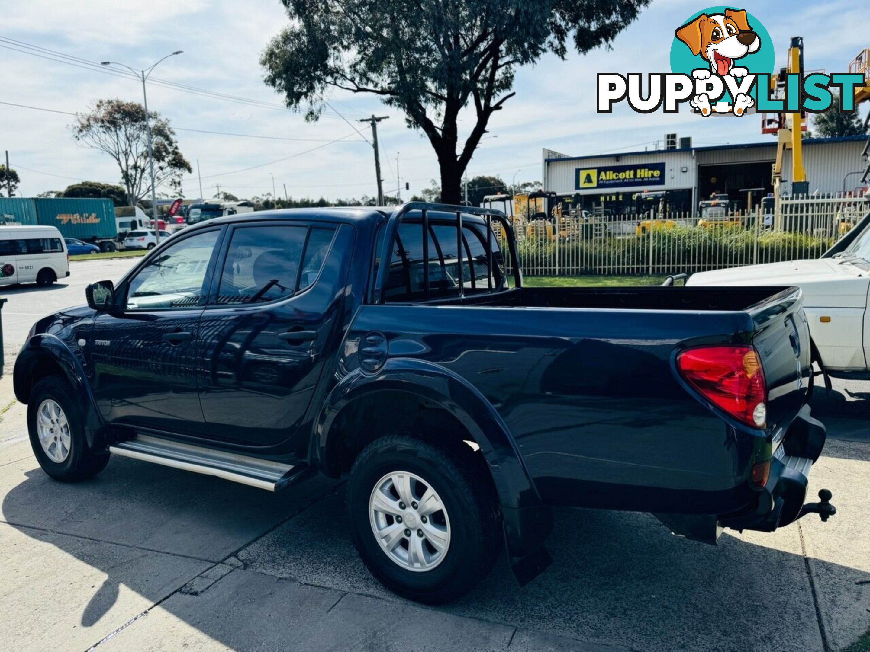
[[[773,445],[807,401],[813,373],[809,325],[800,289],[778,291],[746,309],[767,383],[767,423]]]

